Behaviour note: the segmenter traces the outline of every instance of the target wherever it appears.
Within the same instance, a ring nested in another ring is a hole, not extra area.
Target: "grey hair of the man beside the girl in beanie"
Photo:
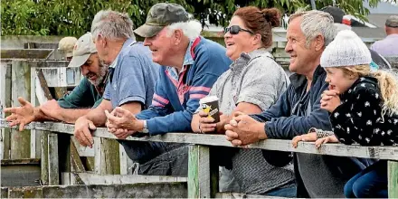
[[[307,46],[309,46],[309,43],[319,34],[325,38],[325,47],[334,40],[337,30],[332,15],[322,11],[311,10],[292,14],[289,18],[289,22],[299,16],[302,17],[300,28],[306,36]]]

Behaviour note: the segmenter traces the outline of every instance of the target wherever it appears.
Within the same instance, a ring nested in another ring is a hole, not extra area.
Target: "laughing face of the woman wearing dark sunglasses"
[[[232,16],[230,25],[238,25],[244,30],[249,30],[241,17],[239,16]],[[250,31],[250,30],[249,30]],[[258,37],[261,38],[259,34]],[[242,52],[252,52],[258,47],[256,46],[259,41],[255,38],[256,34],[249,33],[246,31],[240,31],[237,34],[232,34],[230,32],[224,34],[224,42],[227,48],[226,55],[232,60],[235,61],[241,56]],[[255,46],[255,47],[254,47]]]

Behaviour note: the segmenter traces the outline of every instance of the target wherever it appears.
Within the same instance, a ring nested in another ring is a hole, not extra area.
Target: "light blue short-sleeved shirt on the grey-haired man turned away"
[[[109,66],[114,68],[103,98],[116,108],[138,101],[147,109],[152,102],[160,66],[152,62],[152,52],[147,46],[128,39]]]

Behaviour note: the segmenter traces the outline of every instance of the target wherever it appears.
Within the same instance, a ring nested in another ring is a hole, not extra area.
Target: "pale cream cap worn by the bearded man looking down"
[[[69,63],[69,67],[81,67],[92,53],[96,53],[95,43],[92,42],[91,33],[85,33],[79,38],[73,47],[73,58]]]

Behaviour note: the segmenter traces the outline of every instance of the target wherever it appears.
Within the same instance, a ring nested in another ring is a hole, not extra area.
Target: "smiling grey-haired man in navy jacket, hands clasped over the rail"
[[[234,146],[245,146],[261,139],[291,139],[306,134],[310,128],[331,129],[320,97],[327,90],[326,71],[320,56],[336,35],[330,14],[308,11],[292,14],[285,51],[290,55],[288,89],[270,109],[256,115],[235,113],[225,126],[227,139]],[[264,156],[269,161],[280,157]],[[295,153],[294,171],[298,197],[343,197],[346,181],[363,166],[352,157],[320,156]]]

